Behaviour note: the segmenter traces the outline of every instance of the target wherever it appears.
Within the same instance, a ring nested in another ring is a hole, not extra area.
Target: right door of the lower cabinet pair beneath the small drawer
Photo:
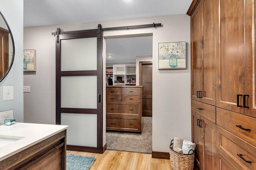
[[[216,125],[204,117],[203,122],[203,160],[204,170],[214,170],[216,165]]]

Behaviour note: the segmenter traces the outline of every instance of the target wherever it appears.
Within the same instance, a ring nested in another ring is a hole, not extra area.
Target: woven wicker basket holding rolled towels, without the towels
[[[173,141],[173,140],[172,140]],[[173,143],[170,145],[170,161],[173,170],[193,170],[194,168],[194,150],[192,154],[180,154],[172,149]]]

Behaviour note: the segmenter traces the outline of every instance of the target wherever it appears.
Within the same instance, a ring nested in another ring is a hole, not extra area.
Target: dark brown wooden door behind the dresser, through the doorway
[[[142,116],[152,117],[152,63],[141,66]]]

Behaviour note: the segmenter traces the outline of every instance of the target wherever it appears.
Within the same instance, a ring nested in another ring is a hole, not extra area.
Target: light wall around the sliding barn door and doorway
[[[190,17],[186,14],[24,28],[24,49],[37,50],[36,74],[24,75],[24,86],[31,88],[30,93],[24,94],[24,121],[55,123],[55,37],[51,33],[57,27],[74,31],[96,29],[98,23],[104,28],[153,22],[162,23],[163,27],[106,31],[103,36],[107,39],[116,35],[153,33],[153,151],[169,152],[174,137],[190,140]],[[158,70],[158,43],[175,41],[187,42],[188,68]],[[104,54],[105,50],[103,61]],[[103,111],[106,114],[106,110]]]

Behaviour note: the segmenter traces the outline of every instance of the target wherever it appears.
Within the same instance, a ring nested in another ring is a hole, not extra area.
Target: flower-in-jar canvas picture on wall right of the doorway
[[[158,43],[158,69],[186,69],[186,41]]]

